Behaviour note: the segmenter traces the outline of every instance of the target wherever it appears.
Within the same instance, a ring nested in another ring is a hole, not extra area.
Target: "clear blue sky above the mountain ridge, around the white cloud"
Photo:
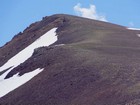
[[[111,23],[140,28],[140,0],[0,0],[0,46],[44,16],[77,15],[73,8],[78,3],[95,5]]]

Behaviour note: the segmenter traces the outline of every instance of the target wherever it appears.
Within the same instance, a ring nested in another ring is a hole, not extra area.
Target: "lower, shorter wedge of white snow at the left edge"
[[[43,69],[36,69],[22,76],[19,76],[18,74],[16,74],[11,78],[0,81],[0,97],[3,97],[4,95],[18,88],[19,86],[25,84],[34,76],[39,74],[41,71],[43,71]]]

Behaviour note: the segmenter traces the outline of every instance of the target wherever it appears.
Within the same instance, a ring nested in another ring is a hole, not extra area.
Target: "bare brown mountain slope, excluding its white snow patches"
[[[1,105],[140,104],[140,31],[119,25],[70,15],[45,17],[0,48],[0,65],[54,27],[58,41],[35,49],[6,78],[44,71],[2,97]]]

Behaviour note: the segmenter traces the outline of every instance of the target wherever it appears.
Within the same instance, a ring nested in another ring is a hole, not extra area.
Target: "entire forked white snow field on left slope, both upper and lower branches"
[[[11,70],[13,70],[21,63],[25,62],[28,58],[30,58],[34,52],[34,49],[38,47],[49,46],[55,43],[58,40],[56,30],[57,28],[51,29],[50,31],[42,35],[40,38],[38,38],[36,41],[34,41],[31,45],[29,45],[28,47],[20,51],[18,54],[13,56],[3,66],[0,67],[0,72],[11,67],[9,70],[7,70],[0,76],[0,97],[4,96],[5,94],[9,93],[10,91],[29,81],[31,79],[29,75],[31,75],[31,77],[34,77],[42,71],[33,71],[33,74],[35,75],[33,75],[32,73],[27,73],[21,77],[18,77],[18,74],[16,74],[14,77],[4,79]],[[25,77],[27,78],[27,80],[23,82],[22,79],[24,79]],[[20,83],[19,80],[21,80],[22,82]],[[17,82],[19,82],[19,84],[15,85]],[[8,87],[9,89],[7,89],[6,87]]]

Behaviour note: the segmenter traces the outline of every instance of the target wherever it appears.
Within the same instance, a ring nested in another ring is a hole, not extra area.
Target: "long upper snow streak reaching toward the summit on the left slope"
[[[0,80],[4,79],[5,76],[15,67],[20,65],[21,63],[25,62],[28,58],[30,58],[34,52],[34,49],[42,46],[49,46],[57,41],[57,35],[56,35],[57,28],[53,28],[44,35],[42,35],[40,38],[38,38],[35,42],[33,42],[31,45],[20,51],[18,54],[16,54],[14,57],[12,57],[10,60],[8,60],[3,66],[0,67],[0,72],[12,67],[9,69],[6,73],[0,76]],[[0,86],[1,87],[1,86]]]

